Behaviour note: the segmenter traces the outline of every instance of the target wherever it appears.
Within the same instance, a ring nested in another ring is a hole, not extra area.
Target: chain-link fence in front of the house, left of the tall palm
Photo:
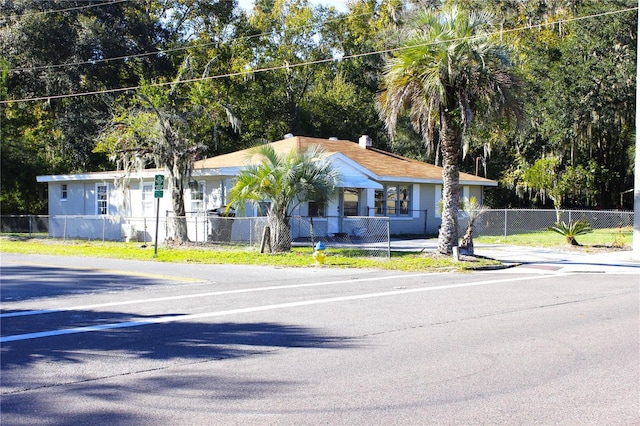
[[[257,248],[262,243],[266,217],[222,217],[210,213],[190,213],[178,218],[170,213],[157,221],[158,242],[168,242],[174,235],[175,221],[186,221],[192,244],[244,245]],[[340,248],[342,253],[372,257],[390,257],[389,218],[289,217],[291,245],[315,247],[322,241],[328,250]],[[25,234],[30,237],[125,241],[155,241],[156,218],[122,216],[44,216],[2,215],[0,232]]]

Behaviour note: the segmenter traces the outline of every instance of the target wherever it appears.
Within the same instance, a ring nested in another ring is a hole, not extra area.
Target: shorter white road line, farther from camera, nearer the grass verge
[[[137,304],[143,304],[143,303],[167,302],[169,300],[183,300],[183,299],[193,299],[193,298],[199,298],[199,297],[224,296],[228,294],[252,293],[254,291],[259,292],[259,291],[271,291],[271,290],[286,290],[286,289],[292,289],[292,288],[318,287],[318,286],[325,286],[325,285],[336,285],[336,284],[346,284],[346,283],[356,283],[356,282],[382,281],[382,280],[389,280],[389,279],[394,280],[398,278],[413,278],[413,277],[440,275],[440,274],[447,274],[447,273],[448,272],[440,272],[440,273],[431,272],[431,273],[413,274],[413,275],[378,276],[378,277],[372,277],[372,278],[358,278],[358,279],[318,282],[318,283],[309,283],[309,284],[291,284],[291,285],[283,285],[283,286],[268,286],[268,287],[257,287],[257,288],[244,288],[244,289],[237,289],[237,290],[212,291],[207,293],[183,294],[180,296],[156,297],[152,299],[127,300],[127,301],[119,301],[119,302],[97,303],[93,305],[70,306],[66,308],[7,312],[4,314],[0,314],[0,318],[22,317],[22,316],[28,316],[28,315],[43,315],[43,314],[52,314],[56,312],[67,312],[67,311],[84,311],[88,309],[106,308],[110,306],[125,306],[125,305],[137,305]]]

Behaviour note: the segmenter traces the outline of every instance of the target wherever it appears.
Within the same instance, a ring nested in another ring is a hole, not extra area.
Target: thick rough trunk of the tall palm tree
[[[438,251],[452,254],[458,244],[458,203],[460,200],[460,158],[462,130],[451,111],[440,110],[440,143],[442,146],[442,225],[438,235]]]

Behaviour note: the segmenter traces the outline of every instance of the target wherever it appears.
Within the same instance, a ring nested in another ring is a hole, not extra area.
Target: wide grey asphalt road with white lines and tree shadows
[[[640,424],[640,278],[2,254],[2,425]]]

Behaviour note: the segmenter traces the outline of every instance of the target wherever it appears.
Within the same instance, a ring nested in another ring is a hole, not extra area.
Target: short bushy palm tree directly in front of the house
[[[306,201],[326,204],[338,186],[339,173],[326,152],[316,145],[285,155],[279,155],[272,145],[261,145],[251,154],[258,163],[240,170],[229,192],[230,205],[242,211],[247,202],[268,203],[271,251],[288,252],[291,210]]]

